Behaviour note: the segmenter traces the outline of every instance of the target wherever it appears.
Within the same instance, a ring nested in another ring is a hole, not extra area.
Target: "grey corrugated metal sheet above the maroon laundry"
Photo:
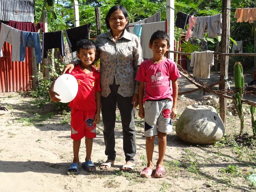
[[[34,0],[0,0],[0,20],[34,22]]]

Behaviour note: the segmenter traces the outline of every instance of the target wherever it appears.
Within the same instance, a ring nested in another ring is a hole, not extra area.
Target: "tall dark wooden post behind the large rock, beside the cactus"
[[[221,35],[221,53],[229,51],[230,35],[230,0],[222,0],[222,35]],[[220,81],[228,77],[228,56],[221,55],[221,73]],[[219,85],[219,89],[227,89],[227,83]],[[220,116],[224,125],[226,124],[227,99],[220,97]]]

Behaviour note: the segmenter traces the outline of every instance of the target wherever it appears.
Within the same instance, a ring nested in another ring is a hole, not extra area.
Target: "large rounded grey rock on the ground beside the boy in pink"
[[[176,133],[185,142],[212,144],[224,136],[225,126],[214,107],[190,105],[180,115]]]

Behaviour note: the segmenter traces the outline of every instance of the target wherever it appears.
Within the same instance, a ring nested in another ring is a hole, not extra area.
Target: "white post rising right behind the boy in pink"
[[[170,51],[174,51],[174,0],[166,0],[166,19],[170,37]],[[168,58],[174,60],[174,54],[169,53]]]

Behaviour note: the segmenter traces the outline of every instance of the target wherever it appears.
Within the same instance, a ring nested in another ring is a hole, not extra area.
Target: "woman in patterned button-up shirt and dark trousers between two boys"
[[[105,22],[109,31],[100,34],[95,40],[101,62],[101,111],[105,154],[108,156],[101,168],[109,169],[116,158],[114,128],[117,103],[126,161],[121,170],[132,170],[136,153],[134,115],[138,105],[138,85],[134,79],[138,65],[143,61],[142,51],[138,37],[125,29],[129,19],[123,5],[115,5],[109,9]],[[79,64],[79,60],[75,63]],[[73,64],[67,65],[63,74],[68,69],[72,71],[73,67]]]

